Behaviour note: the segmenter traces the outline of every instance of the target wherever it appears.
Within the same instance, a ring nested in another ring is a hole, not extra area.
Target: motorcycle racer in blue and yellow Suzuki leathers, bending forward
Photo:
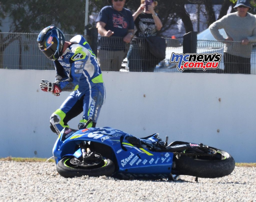
[[[105,100],[105,86],[95,54],[81,35],[65,41],[62,31],[55,25],[44,28],[38,35],[39,49],[54,62],[55,82],[42,80],[42,91],[59,96],[62,91],[71,92],[68,98],[50,116],[50,128],[60,134],[68,121],[83,112],[78,124],[81,129],[89,118],[87,126],[95,127],[100,109]]]

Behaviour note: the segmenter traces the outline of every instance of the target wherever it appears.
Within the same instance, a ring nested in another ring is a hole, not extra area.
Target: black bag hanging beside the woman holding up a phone
[[[165,59],[166,42],[165,39],[158,36],[145,37],[148,43],[149,51],[159,60]]]

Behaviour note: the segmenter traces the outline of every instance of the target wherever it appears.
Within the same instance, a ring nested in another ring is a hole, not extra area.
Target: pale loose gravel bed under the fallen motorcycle
[[[165,180],[64,178],[55,163],[0,161],[0,201],[256,201],[256,168],[235,167],[221,178],[182,175]]]

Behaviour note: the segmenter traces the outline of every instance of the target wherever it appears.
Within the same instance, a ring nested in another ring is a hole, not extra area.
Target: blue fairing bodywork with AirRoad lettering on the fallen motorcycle
[[[120,175],[170,175],[173,153],[154,152],[148,150],[146,147],[136,147],[125,139],[125,137],[134,136],[121,130],[110,127],[82,129],[74,132],[64,141],[61,141],[63,130],[53,149],[56,164],[64,156],[79,156],[81,150],[79,151],[80,148],[77,145],[82,141],[92,141],[108,145],[112,149],[116,163],[118,164],[116,172]],[[154,136],[140,140],[152,145],[156,141],[159,141]],[[75,154],[76,152],[77,154]]]

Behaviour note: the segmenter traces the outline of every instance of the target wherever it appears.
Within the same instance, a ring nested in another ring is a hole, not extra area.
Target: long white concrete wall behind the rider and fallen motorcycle
[[[42,92],[55,71],[0,69],[0,157],[52,156],[49,117],[68,96]],[[204,143],[236,162],[256,162],[256,75],[103,72],[106,102],[98,127],[169,142]],[[69,122],[76,128],[82,117]],[[217,132],[219,130],[219,132]],[[35,154],[36,151],[36,154]]]

